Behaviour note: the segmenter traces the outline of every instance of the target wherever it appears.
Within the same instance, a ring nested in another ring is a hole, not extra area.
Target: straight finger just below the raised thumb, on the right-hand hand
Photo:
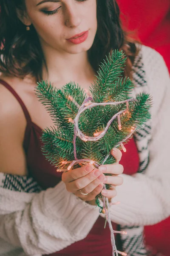
[[[124,167],[122,166],[122,164],[113,163],[99,166],[99,170],[102,171],[103,173],[119,175],[123,173]]]

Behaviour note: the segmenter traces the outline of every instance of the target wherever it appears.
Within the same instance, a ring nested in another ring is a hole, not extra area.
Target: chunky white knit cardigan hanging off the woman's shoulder
[[[133,94],[147,91],[153,96],[148,150],[145,140],[137,143],[141,165],[148,157],[149,164],[144,172],[122,174],[124,183],[116,187],[113,198],[121,203],[111,207],[111,220],[143,229],[170,215],[170,77],[158,52],[146,46],[141,52],[147,86],[141,81]],[[98,207],[68,192],[62,181],[45,191],[19,192],[5,188],[5,176],[0,173],[0,256],[54,253],[84,239],[99,215],[104,217]],[[132,230],[135,227],[129,229],[129,237]]]

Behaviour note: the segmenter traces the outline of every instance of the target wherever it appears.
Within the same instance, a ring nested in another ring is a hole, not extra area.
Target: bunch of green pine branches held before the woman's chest
[[[122,78],[126,57],[122,51],[112,51],[106,61],[99,66],[96,80],[90,91],[94,102],[118,102],[129,98],[134,84],[129,78]],[[78,112],[77,105],[82,105],[86,96],[85,91],[74,82],[65,84],[62,89],[54,88],[51,83],[45,81],[37,83],[35,92],[40,102],[44,105],[55,127],[46,128],[42,134],[43,154],[51,164],[59,167],[62,160],[74,160],[74,124],[68,122],[74,119]],[[72,96],[74,101],[68,99]],[[105,159],[111,149],[130,134],[132,126],[138,129],[144,122],[150,119],[150,107],[152,101],[147,93],[139,93],[136,99],[129,102],[129,113],[121,115],[122,130],[118,129],[117,118],[111,123],[107,133],[100,140],[84,142],[79,137],[76,139],[77,158],[90,158],[99,164]],[[94,132],[103,131],[112,116],[119,111],[125,110],[126,104],[96,106],[87,109],[79,118],[79,129],[88,136],[93,137]],[[105,164],[114,163],[112,155]],[[80,165],[74,166],[74,168]]]

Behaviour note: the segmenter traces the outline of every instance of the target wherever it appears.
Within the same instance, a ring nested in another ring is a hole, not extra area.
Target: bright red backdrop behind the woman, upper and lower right
[[[118,0],[125,30],[163,57],[170,71],[170,0]],[[170,218],[145,227],[147,244],[170,256]]]

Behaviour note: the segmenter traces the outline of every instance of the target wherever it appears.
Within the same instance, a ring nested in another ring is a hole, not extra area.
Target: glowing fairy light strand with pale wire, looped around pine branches
[[[85,90],[86,93],[88,94],[88,98],[86,98],[84,100],[84,102],[82,103],[82,105],[80,106],[74,99],[72,96],[68,96],[68,99],[71,100],[71,102],[73,102],[77,108],[78,108],[78,113],[77,113],[77,116],[75,117],[75,119],[71,119],[69,118],[68,121],[71,122],[72,124],[74,124],[74,139],[73,139],[73,145],[74,145],[74,158],[75,160],[73,161],[62,161],[62,164],[60,165],[62,168],[61,169],[57,169],[58,172],[62,172],[64,171],[65,169],[63,169],[63,167],[67,164],[67,163],[70,163],[70,165],[68,166],[67,170],[71,170],[71,168],[77,164],[77,163],[90,163],[96,167],[99,167],[100,164],[97,163],[96,161],[92,161],[91,159],[77,159],[77,153],[76,153],[76,137],[78,136],[81,140],[87,142],[87,141],[97,141],[97,140],[100,140],[102,137],[105,136],[106,132],[108,131],[108,128],[109,126],[111,125],[111,123],[113,122],[114,119],[118,118],[118,128],[119,130],[122,130],[122,125],[121,125],[121,119],[120,119],[120,115],[123,113],[125,114],[126,112],[129,113],[129,102],[133,100],[133,98],[131,99],[127,99],[125,101],[120,101],[120,102],[104,102],[104,103],[95,103],[95,102],[88,102],[89,100],[93,100],[91,94],[88,92],[88,90],[86,89]],[[126,103],[126,109],[125,110],[122,110],[122,111],[119,111],[118,113],[116,113],[114,116],[112,116],[112,118],[109,120],[108,124],[106,125],[105,129],[103,131],[99,131],[99,132],[96,132],[94,133],[94,137],[90,137],[90,136],[87,136],[85,134],[82,133],[82,131],[79,130],[79,116],[85,111],[87,110],[88,108],[93,108],[95,106],[105,106],[105,105],[119,105],[119,104],[122,104],[122,103]],[[132,126],[132,128],[130,129],[130,134],[127,135],[127,137],[122,140],[119,144],[117,144],[115,146],[118,147],[119,145],[122,146],[122,149],[123,151],[126,151],[125,149],[125,146],[123,145],[123,142],[125,140],[127,140],[132,134],[133,132],[136,130],[136,127]],[[109,153],[105,159],[103,160],[102,164],[103,165],[105,163],[105,161],[108,159],[108,157],[110,156],[111,153]],[[106,186],[104,184],[104,189],[106,189]],[[104,213],[105,213],[105,217],[106,217],[106,220],[108,221],[108,224],[109,224],[109,228],[110,228],[110,231],[111,231],[111,244],[112,244],[112,255],[115,256],[115,253],[116,253],[116,256],[118,256],[118,253],[121,254],[122,256],[127,256],[127,253],[124,253],[124,252],[121,252],[119,250],[117,250],[116,248],[116,243],[115,243],[115,238],[114,238],[114,233],[121,233],[121,234],[127,234],[127,232],[125,231],[116,231],[116,230],[113,230],[113,227],[112,227],[112,224],[111,224],[111,216],[110,216],[110,206],[113,205],[113,204],[119,204],[119,202],[116,202],[116,203],[112,203],[112,204],[109,204],[108,202],[108,198],[106,198],[105,196],[102,195],[102,198],[103,198],[103,209],[104,209]]]

